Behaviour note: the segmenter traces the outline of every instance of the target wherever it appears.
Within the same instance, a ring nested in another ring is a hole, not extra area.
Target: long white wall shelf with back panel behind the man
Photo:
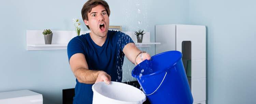
[[[27,50],[65,50],[68,42],[76,36],[75,31],[52,31],[53,40],[51,45],[44,44],[43,30],[27,30]],[[81,34],[90,31],[81,31]],[[123,32],[129,35],[132,40],[137,41],[133,32]],[[160,42],[150,42],[150,32],[145,32],[142,43],[135,43],[137,47],[150,47],[150,45],[159,45]]]

